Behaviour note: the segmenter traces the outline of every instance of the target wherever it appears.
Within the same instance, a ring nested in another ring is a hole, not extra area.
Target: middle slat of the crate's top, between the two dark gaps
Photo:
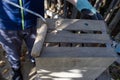
[[[111,43],[106,34],[70,34],[70,33],[48,33],[45,42],[66,43]]]

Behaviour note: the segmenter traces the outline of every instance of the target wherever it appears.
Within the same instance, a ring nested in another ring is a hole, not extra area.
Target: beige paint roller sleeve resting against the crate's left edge
[[[43,24],[40,28],[37,29],[37,37],[35,39],[31,55],[33,57],[38,57],[42,50],[44,40],[47,34],[47,24]]]

